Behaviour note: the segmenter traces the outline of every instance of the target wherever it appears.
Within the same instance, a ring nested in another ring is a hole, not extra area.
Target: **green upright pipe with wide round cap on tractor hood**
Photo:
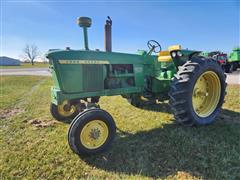
[[[84,47],[86,50],[88,48],[88,35],[87,35],[87,28],[91,27],[92,20],[89,17],[79,17],[77,23],[80,27],[83,28],[83,35],[84,35]]]

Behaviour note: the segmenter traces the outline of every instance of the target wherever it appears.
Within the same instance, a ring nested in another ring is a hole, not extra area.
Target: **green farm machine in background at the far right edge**
[[[225,70],[227,73],[236,71],[240,67],[240,48],[234,48],[228,56]]]

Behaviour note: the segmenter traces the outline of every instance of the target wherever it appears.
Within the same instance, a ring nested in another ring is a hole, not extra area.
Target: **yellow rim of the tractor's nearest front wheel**
[[[83,127],[80,140],[84,147],[96,149],[106,142],[108,134],[108,127],[105,122],[93,120]]]

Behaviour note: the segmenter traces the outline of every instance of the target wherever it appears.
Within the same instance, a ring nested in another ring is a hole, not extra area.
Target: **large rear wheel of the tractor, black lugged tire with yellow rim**
[[[175,120],[184,125],[212,123],[221,111],[226,76],[212,59],[193,57],[179,67],[169,92]]]

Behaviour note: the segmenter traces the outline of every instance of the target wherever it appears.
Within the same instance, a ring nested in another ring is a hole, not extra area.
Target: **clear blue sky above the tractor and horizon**
[[[163,49],[183,48],[229,53],[239,46],[239,0],[1,1],[1,56],[19,58],[26,44],[48,49],[83,48],[77,18],[92,18],[89,48],[104,50],[104,24],[113,21],[113,51],[147,50],[147,41]]]

